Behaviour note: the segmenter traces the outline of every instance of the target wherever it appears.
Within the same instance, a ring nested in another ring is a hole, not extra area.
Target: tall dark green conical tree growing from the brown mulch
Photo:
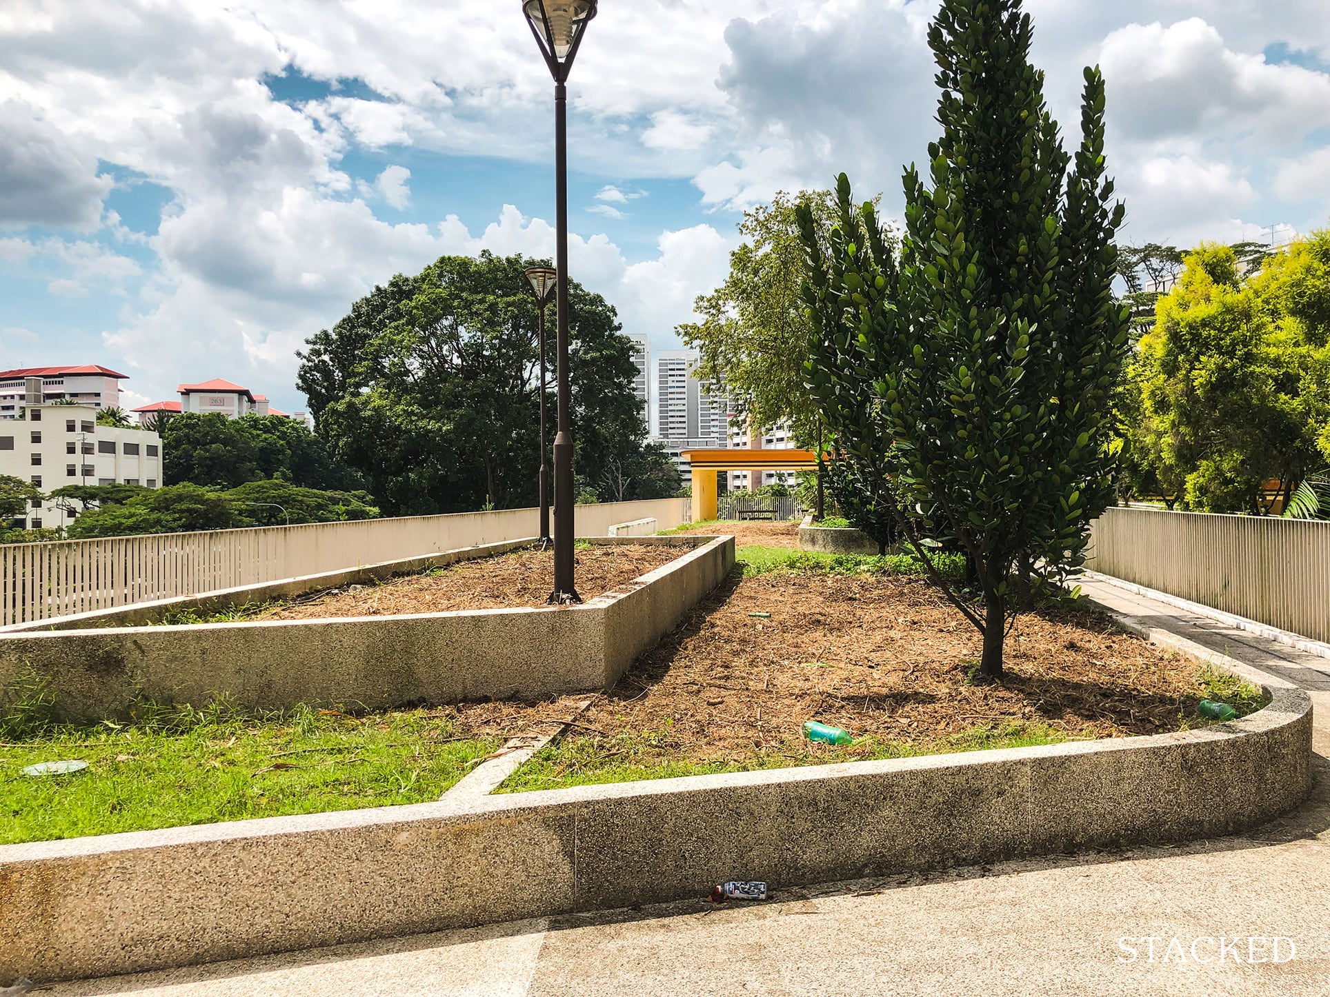
[[[1068,173],[1031,35],[1020,0],[942,4],[928,43],[943,137],[930,185],[906,171],[899,257],[845,175],[826,237],[799,214],[810,386],[838,448],[895,491],[920,560],[924,536],[970,556],[980,605],[935,580],[983,633],[990,678],[1008,615],[1029,600],[1008,580],[1079,566],[1112,498],[1109,403],[1128,343],[1112,294],[1124,209],[1104,175],[1104,81],[1085,70]]]

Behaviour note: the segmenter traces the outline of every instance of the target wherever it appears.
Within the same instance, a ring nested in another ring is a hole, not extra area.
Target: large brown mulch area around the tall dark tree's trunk
[[[1200,698],[1196,662],[1095,613],[1020,617],[1000,685],[971,679],[979,651],[978,631],[922,580],[732,577],[580,714],[573,732],[665,731],[638,764],[743,762],[802,747],[807,719],[910,743],[1012,723],[1103,738],[1176,730]],[[573,706],[568,697],[459,714],[479,732],[513,734],[532,719],[571,717]]]

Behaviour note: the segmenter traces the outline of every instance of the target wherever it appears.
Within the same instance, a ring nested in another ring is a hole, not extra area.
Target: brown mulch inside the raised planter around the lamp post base
[[[577,594],[602,596],[688,553],[678,546],[625,544],[575,552]],[[468,609],[543,606],[555,577],[553,550],[516,550],[462,561],[431,574],[392,578],[382,585],[335,589],[274,605],[254,619],[386,617]]]

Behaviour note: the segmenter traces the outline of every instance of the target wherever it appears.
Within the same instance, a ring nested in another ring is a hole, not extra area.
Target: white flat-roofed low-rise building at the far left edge
[[[23,419],[0,427],[0,475],[27,479],[48,493],[63,485],[160,488],[162,441],[148,429],[98,425],[92,405],[31,404]],[[66,526],[76,514],[35,502],[16,525]]]

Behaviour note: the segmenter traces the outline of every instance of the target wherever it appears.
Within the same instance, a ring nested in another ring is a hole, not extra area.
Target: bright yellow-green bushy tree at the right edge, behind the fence
[[[1244,277],[1202,245],[1161,298],[1119,399],[1127,481],[1172,506],[1265,514],[1330,456],[1330,231]]]

